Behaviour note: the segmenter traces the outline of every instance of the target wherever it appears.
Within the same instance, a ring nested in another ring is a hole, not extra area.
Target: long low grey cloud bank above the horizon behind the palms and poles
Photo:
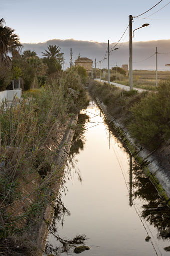
[[[24,43],[23,51],[30,49],[31,51],[36,51],[39,57],[42,56],[42,52],[47,50],[49,45],[57,45],[61,48],[61,52],[65,55],[65,65],[69,65],[70,62],[70,48],[73,52],[73,61],[80,54],[81,57],[87,57],[93,59],[93,63],[99,60],[108,58],[107,43],[99,43],[94,41],[77,41],[74,39],[52,39],[44,43]],[[111,51],[110,53],[110,67],[118,66],[123,64],[128,64],[129,59],[129,43],[125,42],[116,45],[116,43],[109,44],[110,50],[118,47],[118,50]],[[151,69],[155,70],[156,66],[156,47],[157,47],[157,60],[158,60],[158,70],[167,70],[165,64],[170,64],[170,39],[169,40],[157,40],[157,41],[146,41],[146,42],[133,42],[133,69]],[[153,55],[152,57],[150,57]],[[99,67],[99,63],[97,63]],[[108,67],[108,59],[101,63],[102,67]],[[170,69],[169,69],[170,71]]]

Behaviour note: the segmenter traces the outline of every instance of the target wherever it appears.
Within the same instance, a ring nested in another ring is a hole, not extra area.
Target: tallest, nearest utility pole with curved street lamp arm
[[[133,30],[132,32],[132,15],[129,16],[129,85],[130,90],[133,90],[133,69],[132,69],[132,37],[134,37],[134,31],[140,28],[149,26],[148,23],[143,24],[140,28]]]

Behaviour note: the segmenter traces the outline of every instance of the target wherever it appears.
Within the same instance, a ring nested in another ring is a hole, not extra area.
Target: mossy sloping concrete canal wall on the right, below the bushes
[[[157,159],[158,152],[150,152],[146,148],[141,149],[141,145],[136,145],[134,139],[130,137],[127,128],[121,123],[121,120],[115,120],[110,116],[107,113],[107,107],[98,98],[95,97],[95,99],[105,118],[116,130],[121,140],[125,143],[133,157],[142,167],[145,176],[154,185],[159,196],[165,200],[167,205],[170,207],[170,174],[166,169],[162,168],[161,162]],[[169,166],[167,166],[167,168],[169,168]]]

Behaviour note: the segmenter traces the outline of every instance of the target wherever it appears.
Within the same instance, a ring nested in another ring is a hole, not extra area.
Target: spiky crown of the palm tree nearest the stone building
[[[43,56],[45,56],[46,58],[53,58],[59,61],[60,64],[62,64],[62,62],[64,61],[64,53],[60,52],[60,47],[59,46],[53,46],[53,45],[49,45],[48,47],[48,51],[45,50],[46,52],[42,52]]]

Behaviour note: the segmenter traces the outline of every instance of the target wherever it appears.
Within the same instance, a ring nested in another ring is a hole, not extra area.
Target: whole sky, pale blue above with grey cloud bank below
[[[40,57],[49,44],[57,44],[66,63],[70,48],[73,59],[80,53],[99,61],[105,57],[109,40],[110,47],[119,42],[119,50],[111,53],[111,65],[117,62],[121,66],[128,63],[129,15],[138,16],[133,19],[132,30],[144,23],[150,25],[134,32],[133,68],[154,69],[155,55],[150,56],[157,46],[158,69],[163,70],[164,64],[170,63],[166,53],[170,52],[169,13],[168,0],[1,0],[0,17],[16,30],[24,50],[35,50]],[[103,65],[107,66],[107,60]]]

